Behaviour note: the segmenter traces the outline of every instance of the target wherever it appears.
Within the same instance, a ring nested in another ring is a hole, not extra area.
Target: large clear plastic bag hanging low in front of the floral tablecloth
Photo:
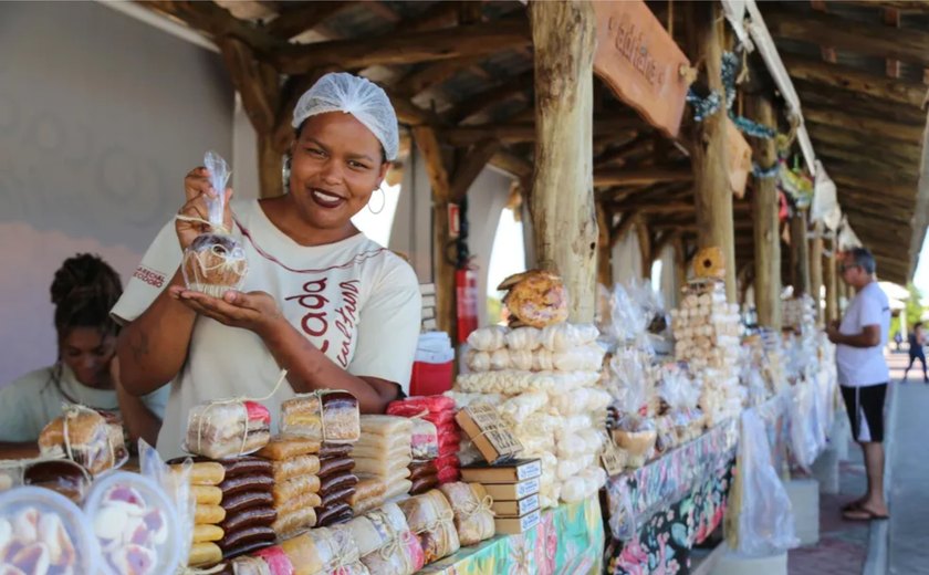
[[[791,500],[774,466],[764,424],[754,412],[742,414],[739,441],[742,509],[739,514],[738,553],[761,557],[796,547]]]

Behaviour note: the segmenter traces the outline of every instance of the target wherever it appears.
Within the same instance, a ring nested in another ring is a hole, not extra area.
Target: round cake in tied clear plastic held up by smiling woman
[[[207,151],[203,165],[216,191],[216,197],[207,197],[211,231],[195,238],[184,250],[180,270],[188,290],[222,297],[227,291],[242,288],[249,263],[242,243],[231,236],[223,221],[229,165],[215,151]]]

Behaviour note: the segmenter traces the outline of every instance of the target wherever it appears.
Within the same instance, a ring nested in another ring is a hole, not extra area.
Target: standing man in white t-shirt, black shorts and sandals
[[[869,521],[888,518],[884,499],[884,399],[890,370],[884,346],[890,330],[890,304],[875,280],[874,255],[854,248],[842,259],[842,280],[856,290],[842,322],[827,328],[836,344],[838,384],[855,441],[865,453],[867,493],[846,505],[843,516]]]

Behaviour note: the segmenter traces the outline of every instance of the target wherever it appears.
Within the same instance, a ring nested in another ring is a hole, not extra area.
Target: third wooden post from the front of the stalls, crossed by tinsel
[[[754,96],[748,98],[748,114],[755,122],[776,127],[771,98]],[[754,157],[762,169],[777,163],[777,149],[773,139],[751,138]],[[752,230],[754,233],[754,300],[758,324],[781,331],[781,222],[776,178],[755,178],[752,195]]]

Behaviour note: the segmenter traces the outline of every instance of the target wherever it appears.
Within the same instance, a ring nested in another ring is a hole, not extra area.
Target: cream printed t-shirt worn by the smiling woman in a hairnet
[[[288,321],[336,365],[409,389],[419,334],[419,285],[413,269],[358,233],[327,245],[294,242],[257,200],[233,203],[237,231],[249,262],[243,292],[270,293]],[[177,271],[181,259],[174,222],[148,248],[113,309],[122,321],[138,317]],[[187,360],[171,383],[158,451],[182,454],[187,417],[197,404],[232,397],[261,398],[280,367],[253,332],[198,316]],[[281,401],[293,397],[285,381],[263,401],[276,428]]]

